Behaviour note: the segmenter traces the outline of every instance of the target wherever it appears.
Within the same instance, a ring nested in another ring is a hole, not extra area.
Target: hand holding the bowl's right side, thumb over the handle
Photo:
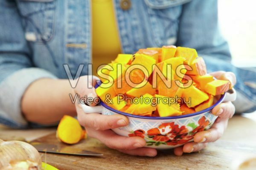
[[[227,80],[230,82],[230,87],[236,84],[236,75],[233,72],[212,72],[210,73],[215,78],[220,80]],[[199,132],[194,136],[194,142],[187,143],[181,147],[174,149],[174,153],[177,156],[181,156],[183,153],[198,152],[207,146],[208,142],[214,142],[218,140],[227,128],[227,123],[235,113],[235,107],[231,101],[218,104],[212,109],[212,114],[218,115],[215,123],[209,130]]]

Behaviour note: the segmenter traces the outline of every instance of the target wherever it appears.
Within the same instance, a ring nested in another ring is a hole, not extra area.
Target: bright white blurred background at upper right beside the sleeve
[[[219,0],[221,32],[228,40],[233,64],[256,67],[256,0]]]

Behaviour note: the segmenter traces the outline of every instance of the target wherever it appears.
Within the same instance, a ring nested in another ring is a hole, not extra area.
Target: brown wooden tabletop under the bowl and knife
[[[38,139],[40,142],[56,144],[55,134]],[[103,156],[68,156],[41,153],[42,161],[60,170],[227,170],[234,160],[249,154],[256,154],[256,144],[244,144],[218,140],[210,143],[200,153],[174,156],[172,150],[160,150],[154,158],[128,156],[105,147],[94,138],[88,138],[74,148],[103,153]]]

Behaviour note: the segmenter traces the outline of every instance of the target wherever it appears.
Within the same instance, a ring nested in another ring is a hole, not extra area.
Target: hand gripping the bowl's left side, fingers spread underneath
[[[96,84],[96,78],[88,81],[87,76],[79,78],[73,95],[78,94],[80,98],[87,96],[96,98],[94,88],[88,88],[88,84]],[[152,148],[145,148],[145,140],[140,137],[124,137],[117,135],[111,129],[123,127],[129,124],[128,118],[123,115],[101,115],[99,113],[86,114],[80,104],[76,101],[77,118],[82,126],[86,128],[87,134],[99,139],[106,146],[134,156],[156,156],[157,151]],[[91,104],[94,106],[95,103]]]

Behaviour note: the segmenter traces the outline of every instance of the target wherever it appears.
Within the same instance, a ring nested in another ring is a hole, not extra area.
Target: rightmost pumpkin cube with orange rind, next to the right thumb
[[[211,95],[221,95],[229,89],[229,81],[214,80],[205,86],[205,91]]]

